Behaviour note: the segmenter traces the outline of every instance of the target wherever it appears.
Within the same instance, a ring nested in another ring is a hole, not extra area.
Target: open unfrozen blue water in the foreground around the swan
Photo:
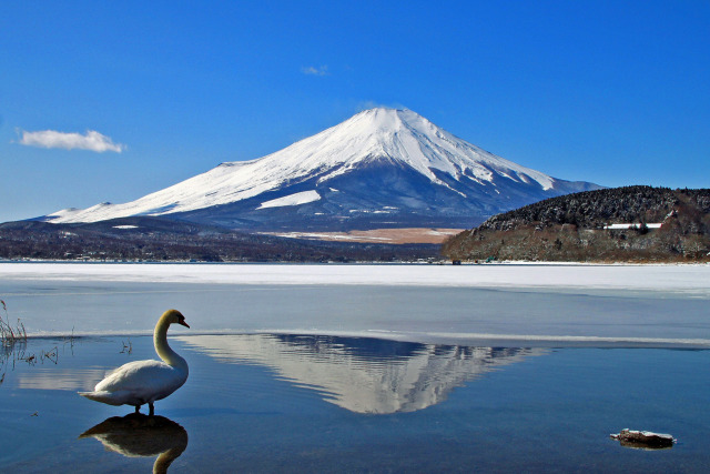
[[[172,344],[190,379],[156,403],[162,417],[152,422],[75,394],[106,369],[153,357],[150,337],[33,340],[6,351],[3,471],[151,472],[171,462],[170,472],[710,468],[708,351],[296,334]],[[623,427],[679,442],[629,450],[608,437]]]

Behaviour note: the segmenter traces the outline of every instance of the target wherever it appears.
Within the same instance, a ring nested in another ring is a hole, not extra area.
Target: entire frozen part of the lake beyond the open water
[[[314,333],[519,345],[710,346],[710,265],[0,264],[36,335]]]

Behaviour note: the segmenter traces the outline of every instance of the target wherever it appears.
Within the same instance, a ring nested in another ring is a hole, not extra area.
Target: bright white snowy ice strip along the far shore
[[[2,279],[662,290],[710,295],[710,265],[0,263]]]

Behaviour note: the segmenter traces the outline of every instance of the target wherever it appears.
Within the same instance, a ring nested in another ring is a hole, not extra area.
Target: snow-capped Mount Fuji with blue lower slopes
[[[132,202],[38,220],[161,216],[250,231],[471,228],[525,204],[599,188],[505,160],[410,110],[376,108],[270,155],[222,163]]]

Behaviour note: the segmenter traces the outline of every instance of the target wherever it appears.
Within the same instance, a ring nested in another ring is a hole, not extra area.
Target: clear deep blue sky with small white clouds
[[[556,178],[710,188],[708,24],[707,0],[6,1],[0,222],[131,201],[373,105]]]

